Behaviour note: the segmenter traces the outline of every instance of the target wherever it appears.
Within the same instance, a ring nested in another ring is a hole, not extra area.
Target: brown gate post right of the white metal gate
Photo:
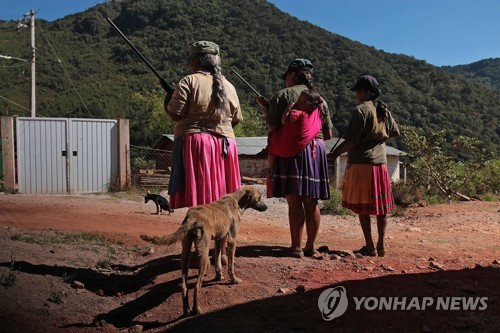
[[[118,189],[130,186],[130,132],[129,120],[118,119]]]

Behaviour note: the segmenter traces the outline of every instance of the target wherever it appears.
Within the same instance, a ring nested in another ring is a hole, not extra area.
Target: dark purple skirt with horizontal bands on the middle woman
[[[296,156],[276,156],[272,191],[273,197],[278,198],[292,194],[320,200],[330,199],[325,142],[314,139]]]

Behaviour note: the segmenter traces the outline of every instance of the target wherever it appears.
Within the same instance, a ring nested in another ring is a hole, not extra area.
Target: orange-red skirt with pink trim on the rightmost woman
[[[342,207],[359,215],[384,215],[394,208],[386,164],[351,164],[344,173]]]

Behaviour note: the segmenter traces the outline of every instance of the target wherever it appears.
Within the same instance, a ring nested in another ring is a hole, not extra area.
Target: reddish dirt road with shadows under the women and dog
[[[500,331],[500,203],[412,208],[391,217],[384,258],[353,257],[362,244],[357,219],[323,215],[317,245],[328,254],[318,259],[286,256],[286,204],[268,203],[268,211],[243,216],[236,253],[243,283],[211,281],[212,267],[204,314],[182,318],[180,245],[151,250],[139,235],[173,232],[186,209],[157,216],[140,196],[0,195],[0,332]],[[89,233],[101,241],[85,239]],[[348,308],[326,321],[318,299],[338,286]],[[357,310],[361,297],[371,303]],[[383,297],[455,297],[486,308],[370,308]]]

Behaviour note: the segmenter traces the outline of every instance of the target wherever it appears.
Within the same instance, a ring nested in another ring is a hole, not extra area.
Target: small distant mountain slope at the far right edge
[[[500,58],[484,59],[469,65],[443,66],[441,68],[489,88],[500,90]]]

